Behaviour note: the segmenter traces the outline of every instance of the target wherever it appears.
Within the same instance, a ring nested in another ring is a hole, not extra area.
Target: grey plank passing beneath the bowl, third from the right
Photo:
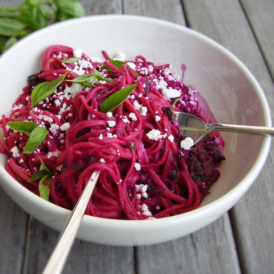
[[[126,14],[164,18],[184,24],[177,0],[124,1]],[[176,15],[174,15],[176,14]],[[240,273],[228,214],[184,238],[167,243],[137,247],[137,273]]]

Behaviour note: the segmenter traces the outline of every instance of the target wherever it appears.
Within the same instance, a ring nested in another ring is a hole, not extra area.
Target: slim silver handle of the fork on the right
[[[207,124],[210,125],[210,124]],[[228,124],[211,124],[210,131],[223,131],[223,132],[238,132],[255,135],[274,135],[274,128],[257,127],[257,126],[239,126]]]

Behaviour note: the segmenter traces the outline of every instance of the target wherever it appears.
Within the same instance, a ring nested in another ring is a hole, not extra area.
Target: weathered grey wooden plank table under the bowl
[[[0,0],[16,6],[20,0]],[[274,0],[81,0],[86,14],[136,14],[186,25],[239,57],[274,113]],[[251,148],[252,149],[252,148]],[[65,274],[274,273],[274,149],[247,194],[221,218],[181,239],[144,247],[76,240]],[[58,233],[0,189],[0,274],[38,274]]]

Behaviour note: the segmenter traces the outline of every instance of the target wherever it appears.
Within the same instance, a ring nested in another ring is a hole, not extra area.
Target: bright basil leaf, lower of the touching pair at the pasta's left
[[[23,153],[32,153],[39,144],[41,144],[46,136],[48,135],[48,130],[44,127],[35,128],[29,135],[28,141],[24,147]]]

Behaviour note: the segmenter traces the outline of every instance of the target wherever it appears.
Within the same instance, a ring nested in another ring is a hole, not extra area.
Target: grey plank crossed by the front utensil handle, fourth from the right
[[[86,14],[119,13],[119,0],[81,0]],[[92,232],[91,232],[92,233]],[[59,233],[36,220],[31,222],[31,231],[25,260],[25,274],[41,273]],[[133,273],[133,248],[111,247],[76,240],[63,273],[111,274]]]

